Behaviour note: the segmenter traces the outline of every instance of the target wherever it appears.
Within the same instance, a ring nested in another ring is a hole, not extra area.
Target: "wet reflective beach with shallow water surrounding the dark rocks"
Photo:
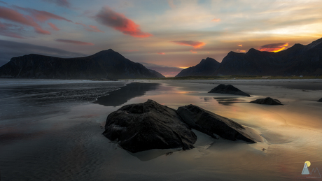
[[[3,79],[0,84],[1,181],[322,180],[317,172],[311,178],[301,174],[305,161],[311,162],[310,173],[316,168],[322,173],[322,80]],[[219,84],[251,97],[207,93]],[[267,96],[284,105],[249,103]],[[102,135],[109,113],[148,99],[174,109],[200,106],[251,127],[262,141],[216,140],[193,130],[192,150],[132,154]]]

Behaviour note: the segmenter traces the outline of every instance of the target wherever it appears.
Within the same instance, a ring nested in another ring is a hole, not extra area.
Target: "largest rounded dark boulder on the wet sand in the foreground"
[[[148,100],[123,106],[106,119],[104,136],[130,152],[193,148],[197,136],[176,110]]]

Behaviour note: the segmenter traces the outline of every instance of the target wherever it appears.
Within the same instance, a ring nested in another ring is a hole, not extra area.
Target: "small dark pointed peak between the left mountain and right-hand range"
[[[176,77],[184,76],[208,76],[212,75],[214,71],[221,65],[216,59],[202,59],[199,64],[186,69],[183,69]]]

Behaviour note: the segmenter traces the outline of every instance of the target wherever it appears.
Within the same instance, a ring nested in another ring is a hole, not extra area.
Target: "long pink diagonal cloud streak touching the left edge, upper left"
[[[39,24],[34,22],[34,20],[32,20],[30,16],[22,15],[10,8],[5,8],[3,6],[0,6],[0,18],[3,18],[5,20],[10,20],[12,22],[18,22],[20,24],[24,24],[30,27],[34,27],[35,31],[39,34],[50,34],[50,31],[41,29]]]

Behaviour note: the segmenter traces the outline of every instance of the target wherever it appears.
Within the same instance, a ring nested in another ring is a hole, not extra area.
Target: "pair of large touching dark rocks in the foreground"
[[[244,140],[256,143],[244,126],[198,106],[182,106],[178,110],[148,100],[123,106],[106,119],[104,136],[117,141],[130,152],[151,149],[192,149],[197,129],[213,138]]]

